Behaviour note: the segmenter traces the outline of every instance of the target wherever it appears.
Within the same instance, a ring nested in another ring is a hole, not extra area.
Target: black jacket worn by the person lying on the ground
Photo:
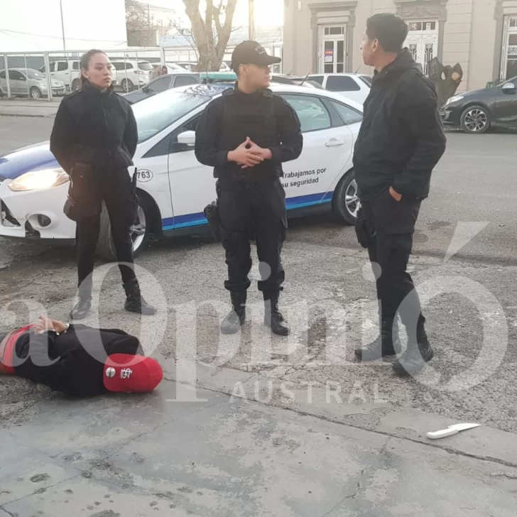
[[[111,354],[143,354],[140,342],[122,330],[70,325],[67,332],[18,337],[13,369],[23,379],[45,384],[72,396],[107,393],[104,361]]]

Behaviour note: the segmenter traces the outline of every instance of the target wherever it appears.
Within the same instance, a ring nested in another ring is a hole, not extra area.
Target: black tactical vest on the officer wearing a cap
[[[239,98],[239,94],[236,94],[234,89],[227,89],[223,99],[219,148],[235,149],[246,140],[247,136],[262,148],[271,148],[281,143],[271,90],[263,90],[254,99],[246,99]],[[281,171],[281,165],[275,165],[271,160],[265,160],[247,169],[242,169],[236,163],[227,163],[224,167],[224,177],[235,181],[262,181],[278,178]]]

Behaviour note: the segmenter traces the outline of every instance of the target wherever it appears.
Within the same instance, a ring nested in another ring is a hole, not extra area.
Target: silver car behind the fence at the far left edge
[[[65,83],[56,79],[50,80],[53,95],[65,94]],[[33,68],[9,68],[9,85],[11,95],[41,99],[48,96],[47,77]],[[7,94],[7,74],[0,72],[0,97]]]

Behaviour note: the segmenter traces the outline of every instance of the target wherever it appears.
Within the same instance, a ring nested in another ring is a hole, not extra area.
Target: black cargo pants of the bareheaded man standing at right
[[[407,271],[420,204],[405,197],[397,201],[388,189],[374,200],[361,202],[369,258],[377,278],[379,315],[395,317],[400,310],[406,327],[414,327],[421,312]]]

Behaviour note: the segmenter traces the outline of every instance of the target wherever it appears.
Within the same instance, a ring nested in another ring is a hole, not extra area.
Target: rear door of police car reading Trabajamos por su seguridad
[[[303,132],[303,152],[283,165],[288,209],[329,202],[330,188],[352,160],[354,138],[329,99],[316,94],[280,93],[295,109]]]

